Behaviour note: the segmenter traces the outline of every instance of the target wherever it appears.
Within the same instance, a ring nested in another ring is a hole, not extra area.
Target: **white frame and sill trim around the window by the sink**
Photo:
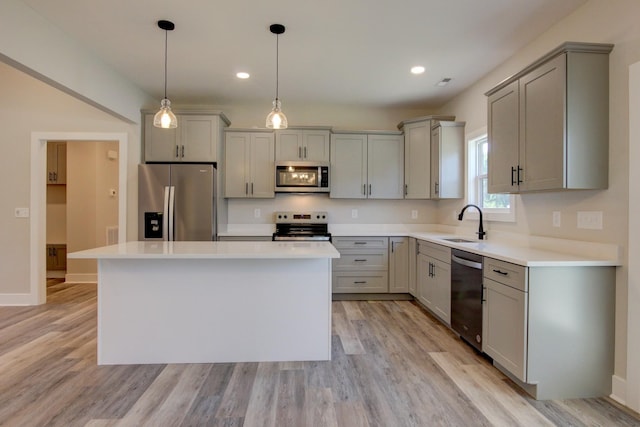
[[[467,203],[473,203],[481,206],[480,201],[480,185],[481,177],[479,175],[479,156],[478,142],[487,139],[487,128],[478,129],[475,132],[467,134]],[[515,222],[516,221],[516,198],[515,195],[509,195],[509,208],[485,208],[482,207],[483,217],[486,221],[499,222]],[[478,219],[479,215],[475,211],[467,211],[470,218]],[[466,213],[465,213],[466,214]]]

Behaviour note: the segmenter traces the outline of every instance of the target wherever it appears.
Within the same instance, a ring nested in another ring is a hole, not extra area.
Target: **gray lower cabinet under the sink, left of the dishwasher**
[[[451,249],[447,246],[418,240],[418,301],[451,323]]]

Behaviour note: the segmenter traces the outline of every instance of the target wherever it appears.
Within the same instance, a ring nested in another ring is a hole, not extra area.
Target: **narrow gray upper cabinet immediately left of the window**
[[[465,122],[435,120],[431,127],[431,198],[464,197]]]

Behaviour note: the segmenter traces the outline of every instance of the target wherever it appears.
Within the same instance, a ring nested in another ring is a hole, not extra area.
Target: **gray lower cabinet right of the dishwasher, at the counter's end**
[[[611,393],[614,267],[484,259],[483,351],[536,399]]]

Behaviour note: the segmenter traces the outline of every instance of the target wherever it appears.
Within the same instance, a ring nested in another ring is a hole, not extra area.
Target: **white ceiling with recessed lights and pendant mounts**
[[[152,96],[435,108],[586,0],[23,0]],[[409,73],[413,65],[426,72]],[[251,74],[248,80],[237,71]],[[435,84],[452,78],[444,87]],[[506,76],[505,76],[506,77]]]

